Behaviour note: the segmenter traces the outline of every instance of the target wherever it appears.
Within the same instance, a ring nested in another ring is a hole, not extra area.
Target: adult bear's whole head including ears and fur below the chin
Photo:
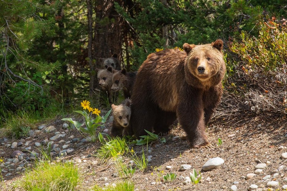
[[[217,39],[211,44],[183,44],[187,53],[185,70],[196,77],[203,86],[218,84],[224,77],[223,41]],[[190,75],[188,75],[190,77]],[[190,79],[189,79],[190,80]],[[192,84],[197,81],[192,80]]]

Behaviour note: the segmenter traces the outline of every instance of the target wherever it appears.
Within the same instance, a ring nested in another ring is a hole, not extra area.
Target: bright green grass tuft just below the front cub
[[[95,156],[106,162],[109,158],[123,155],[126,151],[128,151],[126,139],[121,137],[115,137],[108,142],[103,143],[101,147],[97,150]]]

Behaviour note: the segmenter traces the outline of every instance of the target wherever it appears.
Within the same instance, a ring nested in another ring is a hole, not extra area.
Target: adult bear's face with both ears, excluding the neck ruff
[[[189,45],[184,44],[184,49],[188,54],[186,66],[190,73],[200,81],[207,81],[213,77],[224,63],[222,40],[216,40],[212,44]]]

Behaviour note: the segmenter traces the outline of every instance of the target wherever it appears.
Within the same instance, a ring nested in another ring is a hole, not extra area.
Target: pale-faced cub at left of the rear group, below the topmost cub
[[[98,72],[98,81],[101,86],[103,92],[107,92],[109,102],[112,100],[112,90],[111,87],[113,85],[112,78],[113,74],[117,72],[117,70],[108,67],[107,69],[96,69]]]

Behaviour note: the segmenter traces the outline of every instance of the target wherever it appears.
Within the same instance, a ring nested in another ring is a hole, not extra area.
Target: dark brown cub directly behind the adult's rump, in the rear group
[[[125,69],[114,73],[112,90],[118,91],[123,90],[124,98],[130,98],[132,95],[132,88],[136,80],[137,72],[126,72]]]

